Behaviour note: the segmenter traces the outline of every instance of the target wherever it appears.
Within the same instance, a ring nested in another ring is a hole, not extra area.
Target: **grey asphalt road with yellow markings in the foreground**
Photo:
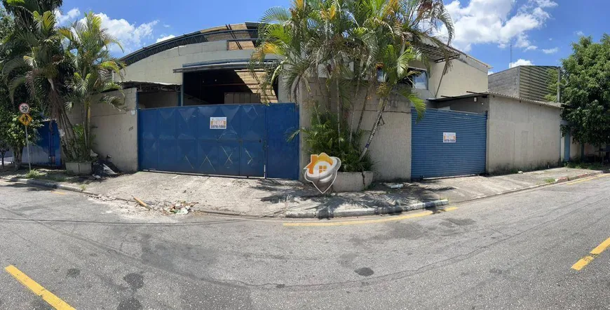
[[[610,248],[589,254],[610,238],[609,189],[602,175],[445,212],[290,222],[0,182],[0,309],[610,309]]]

